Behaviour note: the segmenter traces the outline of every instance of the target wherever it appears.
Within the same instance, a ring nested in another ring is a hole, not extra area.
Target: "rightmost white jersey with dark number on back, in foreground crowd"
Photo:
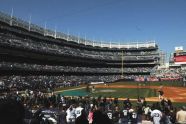
[[[151,117],[153,118],[154,124],[160,124],[162,113],[160,110],[155,109],[151,112]]]

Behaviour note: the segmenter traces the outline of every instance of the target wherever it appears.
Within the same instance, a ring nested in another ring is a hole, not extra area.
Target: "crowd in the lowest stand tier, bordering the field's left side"
[[[114,82],[120,79],[120,75],[112,76],[1,76],[4,88],[25,90],[54,90],[55,88],[79,86],[91,82]],[[4,89],[3,88],[3,89]],[[3,90],[1,89],[1,90]]]

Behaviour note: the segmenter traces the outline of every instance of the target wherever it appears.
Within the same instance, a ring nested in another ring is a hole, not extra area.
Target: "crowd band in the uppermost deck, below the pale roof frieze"
[[[0,34],[1,45],[8,45],[15,48],[29,49],[38,52],[51,53],[55,55],[69,55],[78,56],[84,58],[95,58],[101,60],[121,60],[121,52],[108,52],[108,51],[92,51],[79,48],[68,47],[64,45],[57,45],[55,43],[47,43],[44,41],[25,39],[15,35],[10,34]],[[123,54],[124,60],[157,60],[158,54],[154,52],[140,52],[139,54],[132,54],[132,52],[127,52]]]

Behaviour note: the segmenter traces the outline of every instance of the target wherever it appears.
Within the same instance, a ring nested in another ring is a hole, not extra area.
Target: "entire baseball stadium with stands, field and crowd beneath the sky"
[[[170,64],[163,66],[159,47],[156,41],[91,41],[0,12],[1,106],[13,100],[24,105],[29,113],[24,116],[25,124],[78,124],[83,111],[74,117],[68,112],[77,110],[80,103],[88,124],[150,124],[157,107],[164,118],[161,124],[174,124],[186,104],[186,52],[176,48]],[[22,111],[11,107],[21,116]],[[128,115],[121,116],[116,108]],[[9,109],[0,107],[0,113]],[[96,116],[91,120],[89,112],[96,115],[102,109],[112,111],[103,116],[105,121],[95,122]],[[56,112],[57,119],[42,116],[37,120],[38,110],[43,115]],[[0,123],[5,115],[0,114]],[[5,120],[2,124],[12,123]]]

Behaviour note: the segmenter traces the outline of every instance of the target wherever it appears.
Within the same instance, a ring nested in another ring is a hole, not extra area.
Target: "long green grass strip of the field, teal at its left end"
[[[87,92],[86,88],[76,90],[66,90],[60,93],[64,96],[103,96],[114,98],[138,98],[138,97],[154,97],[157,96],[157,92],[153,89],[137,89],[137,88],[96,88],[94,92]]]

